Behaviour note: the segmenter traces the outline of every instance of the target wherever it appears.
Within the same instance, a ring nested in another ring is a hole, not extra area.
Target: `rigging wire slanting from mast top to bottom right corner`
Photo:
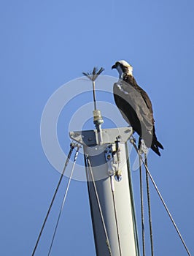
[[[139,149],[137,148],[136,143],[134,142],[133,138],[131,138],[130,142],[132,143],[133,147],[135,148],[137,154],[139,154],[139,157],[141,157],[141,154],[139,153]],[[166,209],[166,212],[167,212],[168,216],[170,217],[171,222],[173,223],[173,225],[174,225],[174,227],[175,227],[175,229],[176,229],[176,233],[178,233],[179,238],[180,238],[181,241],[182,241],[182,244],[185,246],[185,249],[186,249],[186,251],[187,251],[187,254],[188,254],[189,256],[191,256],[191,255],[190,255],[190,251],[189,251],[189,249],[187,248],[187,245],[185,244],[185,241],[184,241],[184,239],[182,238],[182,235],[181,235],[181,233],[180,233],[178,227],[176,226],[176,223],[174,222],[174,219],[173,219],[173,217],[171,216],[171,213],[170,213],[170,211],[168,210],[168,207],[166,206],[166,203],[165,203],[165,201],[163,200],[163,197],[162,197],[162,195],[160,194],[160,191],[159,191],[157,185],[155,184],[155,181],[154,181],[154,179],[152,178],[152,175],[151,175],[151,173],[150,173],[150,170],[148,169],[147,165],[145,164],[143,157],[141,157],[141,161],[143,162],[143,165],[144,165],[144,167],[145,167],[145,169],[146,169],[146,172],[147,172],[148,175],[150,176],[150,179],[151,179],[151,181],[152,181],[152,184],[154,185],[155,190],[156,190],[156,192],[158,193],[158,195],[159,195],[159,197],[160,197],[160,200],[162,201],[163,206],[164,206],[164,208]]]

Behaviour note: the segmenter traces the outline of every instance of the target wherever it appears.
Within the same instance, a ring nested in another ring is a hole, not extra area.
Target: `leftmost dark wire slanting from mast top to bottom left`
[[[71,153],[72,153],[73,149],[74,149],[74,143],[71,143],[71,144],[70,144],[69,154],[68,154],[68,157],[67,157],[67,159],[66,159],[66,163],[65,163],[65,165],[64,165],[64,167],[63,167],[63,172],[61,173],[61,178],[59,179],[59,181],[58,181],[58,186],[57,186],[56,189],[55,189],[55,194],[53,195],[53,199],[51,200],[50,207],[49,207],[49,209],[48,209],[48,211],[47,211],[47,215],[46,215],[46,217],[45,217],[45,219],[44,219],[42,228],[41,228],[41,230],[40,230],[39,236],[38,236],[37,241],[36,241],[36,245],[34,246],[34,250],[33,250],[33,252],[32,252],[32,256],[34,256],[34,254],[35,254],[35,252],[36,252],[37,246],[38,246],[38,244],[39,244],[39,239],[40,239],[41,236],[42,236],[42,231],[44,230],[44,226],[45,226],[45,224],[46,224],[46,222],[47,222],[47,218],[48,218],[48,216],[49,216],[49,214],[50,214],[50,210],[51,210],[51,208],[52,208],[52,206],[53,206],[53,203],[54,203],[54,200],[55,200],[55,196],[57,195],[58,188],[59,188],[59,186],[60,186],[60,184],[61,184],[61,181],[62,181],[62,178],[63,178],[63,174],[65,173],[65,170],[66,170],[66,167],[67,167],[67,165],[68,165],[68,163],[69,163],[69,159],[70,159],[70,157],[71,157]]]

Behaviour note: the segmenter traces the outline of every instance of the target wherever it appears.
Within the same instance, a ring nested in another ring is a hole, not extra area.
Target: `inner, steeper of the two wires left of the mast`
[[[57,228],[58,228],[58,222],[59,222],[59,220],[60,220],[61,213],[62,213],[62,211],[63,211],[63,206],[64,206],[65,201],[66,201],[66,195],[67,195],[67,192],[68,192],[68,190],[69,190],[69,185],[70,185],[70,182],[71,182],[71,178],[72,178],[73,173],[74,173],[74,167],[75,167],[76,160],[77,160],[77,156],[78,156],[78,153],[79,153],[79,148],[80,148],[80,146],[77,146],[77,151],[76,151],[75,154],[74,154],[74,163],[73,163],[73,166],[72,166],[72,168],[71,168],[71,173],[70,173],[70,176],[69,176],[69,181],[68,181],[68,184],[67,184],[67,187],[66,187],[65,195],[64,195],[64,197],[63,197],[63,203],[62,203],[62,205],[61,205],[61,210],[60,210],[60,212],[59,212],[59,214],[58,214],[58,219],[57,219],[57,222],[56,222],[56,225],[55,225],[55,230],[54,230],[53,238],[52,238],[52,241],[51,241],[51,244],[50,244],[50,249],[49,249],[49,252],[48,252],[48,256],[50,256],[50,252],[51,252],[51,249],[52,249],[52,247],[53,247],[53,241],[54,241],[54,239],[55,239],[55,234],[56,234],[56,231],[57,231]]]

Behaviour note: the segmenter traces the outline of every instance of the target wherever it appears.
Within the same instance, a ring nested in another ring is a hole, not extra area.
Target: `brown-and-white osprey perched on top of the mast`
[[[155,135],[152,102],[147,93],[141,89],[133,77],[133,67],[126,61],[117,61],[112,69],[119,72],[119,80],[114,84],[115,103],[125,121],[131,124],[133,131],[139,135],[139,147],[144,140],[147,148],[152,148],[160,156],[163,149]]]

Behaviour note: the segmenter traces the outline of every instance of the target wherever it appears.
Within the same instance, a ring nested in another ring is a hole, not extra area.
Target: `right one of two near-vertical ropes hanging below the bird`
[[[145,165],[147,166],[147,154],[144,154]],[[151,215],[151,203],[150,203],[150,185],[149,185],[149,176],[146,171],[146,183],[147,183],[147,205],[148,205],[148,214],[149,214],[149,225],[150,225],[150,245],[152,256],[154,256],[154,246],[153,246],[153,235],[152,235],[152,215]]]

